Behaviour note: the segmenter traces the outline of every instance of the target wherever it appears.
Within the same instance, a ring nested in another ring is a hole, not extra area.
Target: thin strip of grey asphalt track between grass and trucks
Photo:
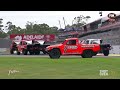
[[[0,57],[48,57],[48,55],[0,55]],[[68,55],[68,56],[61,56],[61,57],[80,57],[79,55]],[[96,57],[102,57],[102,58],[120,58],[120,55],[109,55],[109,56],[103,56],[103,55],[97,55],[97,56],[93,56],[93,58]]]

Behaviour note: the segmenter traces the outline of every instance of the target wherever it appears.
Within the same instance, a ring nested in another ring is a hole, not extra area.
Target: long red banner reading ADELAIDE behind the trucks
[[[54,41],[55,35],[41,35],[41,34],[11,34],[10,39],[12,40],[44,40]]]

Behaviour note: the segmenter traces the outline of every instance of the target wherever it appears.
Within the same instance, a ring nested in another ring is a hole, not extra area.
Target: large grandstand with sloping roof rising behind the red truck
[[[115,22],[110,22],[108,17],[88,23],[79,29],[59,30],[58,41],[68,37],[83,39],[103,39],[104,43],[120,45],[120,15],[117,15]]]

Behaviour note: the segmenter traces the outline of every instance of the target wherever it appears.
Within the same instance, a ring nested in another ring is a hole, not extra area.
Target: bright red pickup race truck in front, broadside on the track
[[[61,44],[46,47],[46,51],[52,59],[60,58],[61,55],[81,55],[82,58],[92,58],[103,49],[103,46],[82,43],[78,38],[68,38]]]

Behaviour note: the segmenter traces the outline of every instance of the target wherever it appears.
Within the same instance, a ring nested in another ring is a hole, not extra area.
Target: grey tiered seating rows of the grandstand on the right
[[[110,43],[111,45],[120,45],[120,15],[116,18],[115,23],[110,23],[109,20],[106,20],[106,21],[102,22],[101,26],[99,26],[100,23],[101,22],[99,19],[98,21],[88,24],[88,25],[92,25],[92,26],[87,31],[84,31],[81,29],[77,32],[80,35],[80,34],[83,34],[86,32],[106,31],[106,30],[111,30],[111,31],[97,33],[97,34],[90,34],[90,35],[84,36],[80,39],[83,40],[83,39],[92,39],[92,38],[99,39],[99,38],[101,38],[101,39],[103,39],[104,43]],[[62,40],[64,40],[65,38],[67,38],[68,35],[70,35],[69,32],[71,32],[71,31],[67,31],[67,32],[62,31],[61,32],[61,35],[64,35],[62,37]],[[74,31],[74,32],[76,32],[76,31]],[[61,37],[59,37],[59,39],[60,38]]]

